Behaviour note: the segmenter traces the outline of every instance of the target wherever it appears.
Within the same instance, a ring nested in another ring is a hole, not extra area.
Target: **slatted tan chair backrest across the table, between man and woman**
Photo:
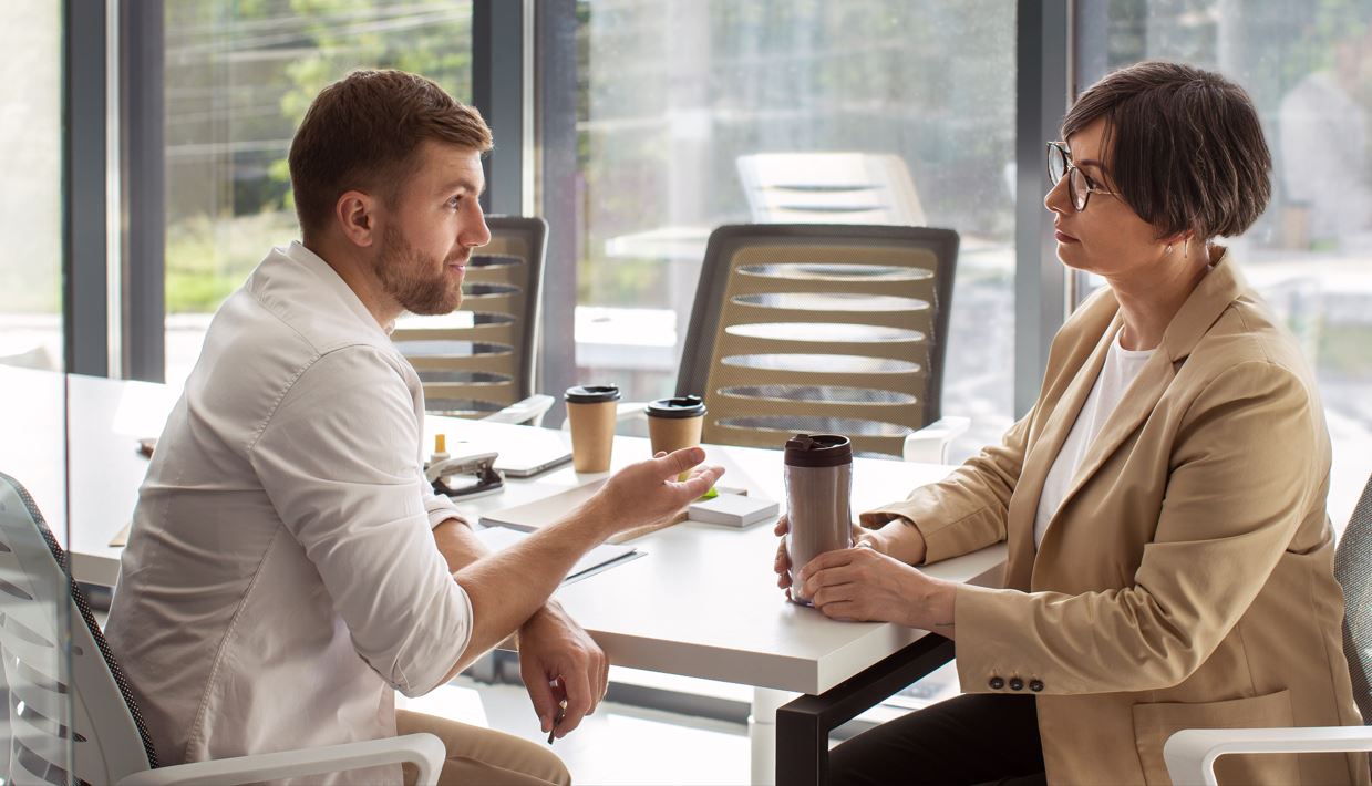
[[[938,420],[958,233],[745,224],[709,237],[676,394],[705,442],[781,447],[844,433],[901,455]]]

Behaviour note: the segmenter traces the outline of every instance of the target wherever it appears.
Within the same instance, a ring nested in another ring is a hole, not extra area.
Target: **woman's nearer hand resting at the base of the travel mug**
[[[896,623],[954,635],[958,586],[868,546],[820,554],[800,569],[800,580],[826,617]]]

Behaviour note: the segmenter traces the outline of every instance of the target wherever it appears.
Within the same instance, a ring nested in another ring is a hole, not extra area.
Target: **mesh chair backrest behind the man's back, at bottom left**
[[[156,767],[137,704],[66,554],[29,492],[4,473],[0,613],[5,783],[115,783]]]

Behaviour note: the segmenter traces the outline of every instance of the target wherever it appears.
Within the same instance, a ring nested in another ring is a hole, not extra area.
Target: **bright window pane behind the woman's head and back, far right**
[[[1078,19],[1081,86],[1143,59],[1235,80],[1273,154],[1273,199],[1225,241],[1314,366],[1347,524],[1372,455],[1372,0],[1111,3]]]

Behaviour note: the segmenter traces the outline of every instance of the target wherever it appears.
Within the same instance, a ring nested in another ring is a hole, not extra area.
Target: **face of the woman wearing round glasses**
[[[1168,255],[1168,241],[1158,239],[1157,228],[1118,196],[1103,193],[1114,191],[1106,170],[1110,151],[1102,150],[1104,130],[1106,121],[1100,118],[1066,140],[1072,163],[1099,189],[1091,192],[1085,210],[1073,207],[1067,177],[1052,187],[1043,203],[1054,214],[1058,259],[1067,267],[1117,278],[1158,265],[1165,257],[1180,258],[1181,247],[1179,241]]]

